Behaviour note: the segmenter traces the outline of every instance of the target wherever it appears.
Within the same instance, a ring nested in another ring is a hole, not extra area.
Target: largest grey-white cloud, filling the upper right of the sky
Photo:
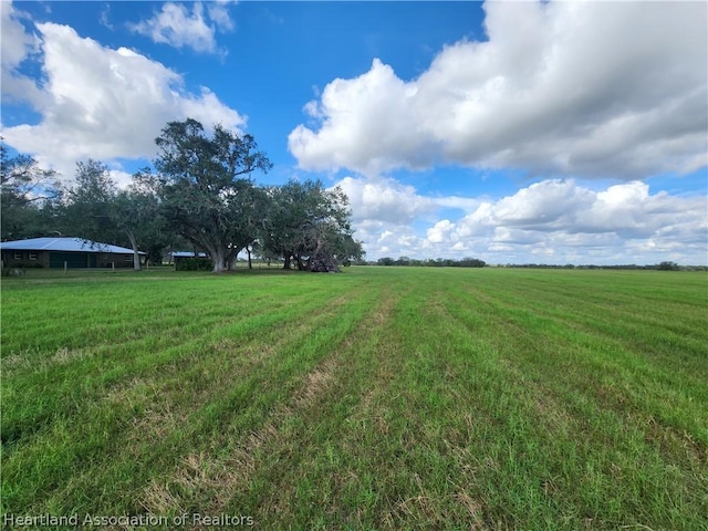
[[[377,175],[437,163],[533,175],[688,173],[707,163],[705,2],[488,2],[488,41],[415,80],[374,60],[305,105],[300,167]]]

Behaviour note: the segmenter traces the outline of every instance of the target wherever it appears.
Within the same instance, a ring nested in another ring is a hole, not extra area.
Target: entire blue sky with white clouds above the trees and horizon
[[[123,186],[192,117],[366,258],[708,264],[708,3],[0,1],[7,146]]]

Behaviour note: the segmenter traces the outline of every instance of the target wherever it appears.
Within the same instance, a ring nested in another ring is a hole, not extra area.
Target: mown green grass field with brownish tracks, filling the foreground
[[[1,341],[6,523],[708,529],[706,273],[28,275]]]

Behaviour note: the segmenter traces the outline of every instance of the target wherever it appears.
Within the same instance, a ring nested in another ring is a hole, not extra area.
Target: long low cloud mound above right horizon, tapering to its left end
[[[671,253],[701,264],[706,207],[705,197],[650,194],[637,180],[594,191],[572,179],[549,179],[486,201],[454,225],[439,221],[428,240],[447,247],[462,241],[486,256],[540,253],[551,263],[573,261],[582,250],[584,260],[597,263],[655,263]]]

